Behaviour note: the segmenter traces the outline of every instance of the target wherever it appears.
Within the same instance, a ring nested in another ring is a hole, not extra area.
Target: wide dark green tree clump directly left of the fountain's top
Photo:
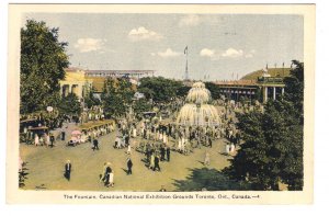
[[[188,90],[181,81],[163,77],[141,78],[138,87],[138,91],[144,93],[146,99],[152,99],[155,102],[168,102],[172,98],[185,95]]]

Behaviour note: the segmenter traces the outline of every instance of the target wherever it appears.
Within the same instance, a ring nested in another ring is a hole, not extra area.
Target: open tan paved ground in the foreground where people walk
[[[69,129],[73,126],[69,126]],[[68,137],[67,137],[68,138]],[[161,172],[148,170],[141,161],[144,155],[133,149],[133,174],[127,175],[126,149],[114,149],[115,132],[99,138],[100,150],[92,150],[90,143],[76,147],[66,147],[64,141],[57,141],[54,148],[35,147],[21,144],[20,152],[23,161],[27,162],[26,190],[35,190],[37,186],[46,190],[83,190],[83,191],[159,191],[164,185],[167,191],[178,190],[174,186],[175,180],[184,180],[191,174],[191,169],[203,168],[205,150],[211,154],[211,166],[222,170],[228,166],[224,140],[213,143],[213,148],[202,147],[193,154],[183,156],[171,151],[170,162],[160,162]],[[72,163],[71,181],[64,178],[64,164],[66,160]],[[114,170],[114,187],[104,187],[99,181],[103,163],[112,162]]]

